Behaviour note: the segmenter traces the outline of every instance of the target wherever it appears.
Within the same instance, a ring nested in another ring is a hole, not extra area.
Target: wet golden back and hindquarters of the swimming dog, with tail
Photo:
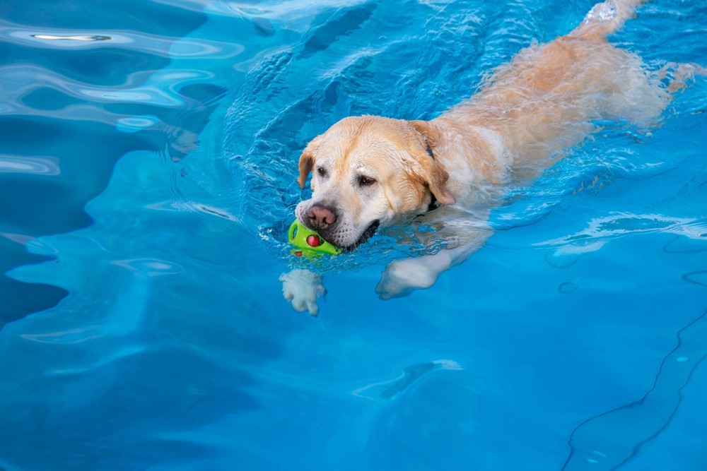
[[[642,3],[597,4],[578,28],[522,50],[479,93],[436,121],[496,131],[516,172],[550,165],[583,141],[597,119],[650,124],[670,94],[648,76],[638,56],[606,40]]]

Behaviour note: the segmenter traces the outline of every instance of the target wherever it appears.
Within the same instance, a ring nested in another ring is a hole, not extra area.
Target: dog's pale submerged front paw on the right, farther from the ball
[[[406,258],[387,266],[375,287],[380,299],[407,296],[413,290],[423,290],[434,285],[439,271],[424,263],[424,258]]]

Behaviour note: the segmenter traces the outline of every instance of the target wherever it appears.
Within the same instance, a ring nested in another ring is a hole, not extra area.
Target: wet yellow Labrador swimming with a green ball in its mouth
[[[650,124],[679,85],[660,86],[641,59],[607,35],[645,0],[596,4],[577,28],[522,49],[479,91],[431,121],[347,117],[308,143],[301,188],[312,197],[296,217],[335,246],[354,249],[379,227],[423,215],[443,240],[436,254],[393,261],[376,287],[382,299],[431,287],[438,275],[477,251],[503,184],[537,176],[583,141],[597,119]],[[676,81],[677,83],[677,81]],[[284,297],[317,315],[322,278],[281,275]]]

